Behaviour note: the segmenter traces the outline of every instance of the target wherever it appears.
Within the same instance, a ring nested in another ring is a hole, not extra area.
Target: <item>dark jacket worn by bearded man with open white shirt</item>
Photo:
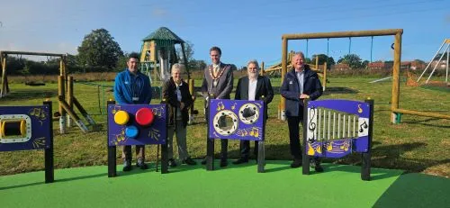
[[[248,100],[248,77],[242,77],[238,80],[238,86],[236,87],[235,100]],[[264,98],[261,96],[264,95]],[[257,77],[257,92],[255,94],[255,100],[263,100],[266,103],[266,118],[267,115],[267,104],[272,102],[274,99],[274,90],[272,89],[272,84],[270,79],[264,76]]]

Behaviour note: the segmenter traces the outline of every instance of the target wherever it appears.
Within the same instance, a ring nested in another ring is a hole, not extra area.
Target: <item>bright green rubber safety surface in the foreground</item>
[[[216,160],[218,161],[218,160]],[[446,207],[450,179],[401,170],[372,168],[372,180],[360,167],[324,164],[324,173],[302,175],[290,161],[266,161],[257,173],[254,161],[206,171],[182,165],[162,175],[155,165],[133,167],[117,177],[107,167],[55,170],[0,176],[0,207]]]

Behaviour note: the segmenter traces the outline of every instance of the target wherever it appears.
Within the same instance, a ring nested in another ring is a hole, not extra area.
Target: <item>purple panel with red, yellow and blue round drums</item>
[[[109,104],[108,145],[166,143],[166,104]]]

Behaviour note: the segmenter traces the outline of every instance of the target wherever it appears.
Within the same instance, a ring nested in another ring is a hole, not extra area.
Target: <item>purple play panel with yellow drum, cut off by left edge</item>
[[[49,106],[0,106],[0,151],[48,149]]]

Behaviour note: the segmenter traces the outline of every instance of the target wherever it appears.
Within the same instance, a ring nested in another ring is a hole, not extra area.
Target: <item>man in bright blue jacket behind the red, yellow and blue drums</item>
[[[118,104],[149,104],[151,101],[151,86],[148,77],[139,72],[139,55],[130,53],[128,68],[117,74],[114,83],[114,97]],[[144,145],[136,146],[137,167],[147,169],[145,164]],[[131,146],[123,146],[123,171],[131,170]]]

